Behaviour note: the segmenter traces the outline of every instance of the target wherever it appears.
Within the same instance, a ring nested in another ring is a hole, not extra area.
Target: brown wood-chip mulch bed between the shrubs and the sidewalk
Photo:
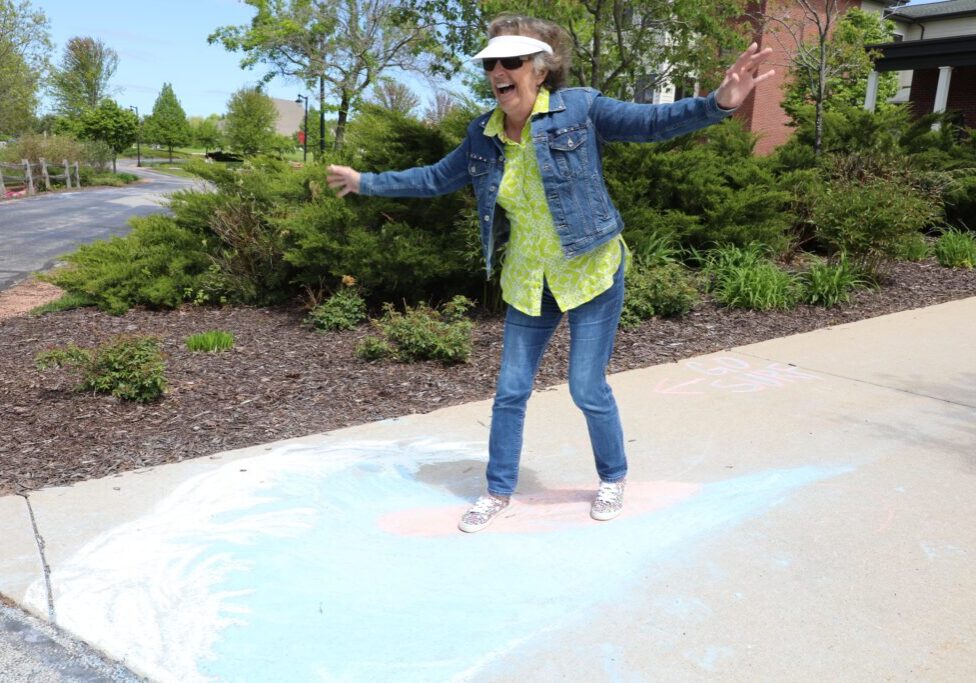
[[[722,309],[710,301],[677,320],[621,332],[611,372],[668,363],[776,337],[976,296],[976,271],[934,261],[899,263],[881,290],[845,306],[788,312]],[[367,363],[355,356],[368,326],[317,332],[299,308],[132,310],[112,317],[83,309],[0,321],[0,495],[74,482],[269,441],[326,432],[492,396],[500,317],[476,321],[470,362],[445,367]],[[224,353],[186,350],[211,329],[234,333]],[[63,371],[39,372],[34,356],[120,334],[154,335],[167,356],[166,396],[139,405],[77,393]],[[553,338],[537,388],[565,381],[565,323]]]

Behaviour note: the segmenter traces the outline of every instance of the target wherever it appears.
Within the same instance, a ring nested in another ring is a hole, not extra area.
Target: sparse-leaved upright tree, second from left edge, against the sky
[[[101,40],[79,36],[68,39],[49,84],[55,110],[72,117],[99,106],[111,94],[109,81],[118,65],[118,53]]]

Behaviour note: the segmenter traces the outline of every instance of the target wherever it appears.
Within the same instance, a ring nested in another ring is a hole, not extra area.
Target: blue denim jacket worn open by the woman
[[[613,239],[623,220],[603,180],[603,144],[655,142],[704,128],[732,113],[708,97],[674,104],[636,104],[603,96],[592,88],[566,88],[550,95],[549,111],[532,119],[542,182],[563,254],[578,256]],[[383,197],[431,197],[474,186],[485,268],[491,275],[496,246],[508,239],[504,210],[495,200],[505,171],[505,150],[484,134],[491,112],[468,126],[464,141],[430,166],[363,173],[359,192]]]

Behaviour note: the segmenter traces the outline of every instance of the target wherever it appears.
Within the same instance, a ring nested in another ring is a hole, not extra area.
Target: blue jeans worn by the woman
[[[567,311],[569,392],[586,417],[597,474],[602,481],[610,482],[627,476],[620,413],[606,378],[624,301],[624,259],[620,261],[610,289]],[[548,287],[542,291],[541,315],[526,315],[511,306],[508,308],[488,440],[488,491],[495,495],[510,496],[515,492],[525,404],[532,393],[542,354],[562,317]]]

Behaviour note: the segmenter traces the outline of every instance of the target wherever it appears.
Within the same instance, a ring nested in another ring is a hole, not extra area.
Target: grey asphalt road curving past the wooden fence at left
[[[82,244],[124,235],[130,218],[165,211],[166,195],[202,182],[120,164],[123,169],[143,179],[126,187],[0,201],[0,291],[50,268]]]

